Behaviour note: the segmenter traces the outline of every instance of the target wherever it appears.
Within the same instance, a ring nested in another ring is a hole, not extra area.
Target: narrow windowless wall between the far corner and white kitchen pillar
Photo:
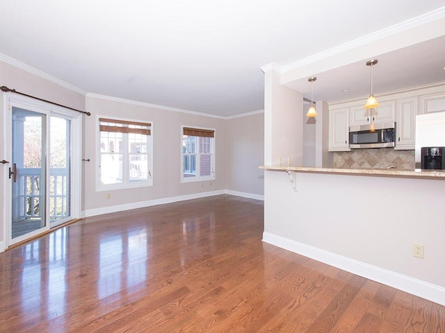
[[[264,113],[227,120],[226,189],[264,196]]]

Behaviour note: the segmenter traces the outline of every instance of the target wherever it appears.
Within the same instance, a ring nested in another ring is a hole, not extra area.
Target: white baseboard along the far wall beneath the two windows
[[[102,215],[102,214],[108,214],[108,213],[122,212],[124,210],[135,210],[137,208],[150,207],[150,206],[155,206],[155,205],[163,205],[165,203],[176,203],[177,201],[205,198],[207,196],[218,196],[220,194],[225,194],[225,193],[226,193],[225,190],[209,191],[209,192],[202,192],[202,193],[196,193],[196,194],[187,194],[186,196],[170,196],[169,198],[160,198],[160,199],[154,199],[154,200],[139,201],[138,203],[125,203],[123,205],[100,207],[100,208],[95,208],[92,210],[86,210],[85,212],[83,212],[82,216],[88,217],[88,216],[96,216],[96,215]]]

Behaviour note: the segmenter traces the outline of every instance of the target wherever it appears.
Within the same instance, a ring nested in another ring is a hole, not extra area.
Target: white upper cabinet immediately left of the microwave
[[[349,108],[329,111],[329,151],[350,151]]]

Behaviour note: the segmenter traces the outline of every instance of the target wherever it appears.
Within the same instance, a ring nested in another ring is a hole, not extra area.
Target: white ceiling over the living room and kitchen
[[[0,53],[91,94],[230,117],[264,108],[264,65],[283,67],[443,6],[444,0],[8,1]],[[369,10],[378,14],[372,20],[364,19]],[[378,60],[375,94],[445,81],[445,37]],[[369,94],[364,62],[314,75],[315,100]],[[307,78],[288,85],[310,98]]]

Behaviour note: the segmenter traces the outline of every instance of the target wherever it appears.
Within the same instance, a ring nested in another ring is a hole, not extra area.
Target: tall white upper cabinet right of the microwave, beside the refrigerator
[[[396,117],[396,150],[414,150],[416,144],[416,115],[418,97],[399,99]]]

